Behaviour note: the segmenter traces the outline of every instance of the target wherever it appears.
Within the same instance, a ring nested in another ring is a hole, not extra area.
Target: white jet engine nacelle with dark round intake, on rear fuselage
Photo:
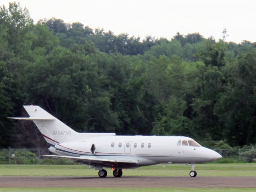
[[[95,144],[91,142],[65,142],[55,145],[56,151],[62,150],[62,152],[71,152],[84,155],[94,155],[96,152]]]

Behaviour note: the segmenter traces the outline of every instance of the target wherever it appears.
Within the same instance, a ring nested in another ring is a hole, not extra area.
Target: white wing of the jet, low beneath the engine
[[[80,157],[74,157],[74,156],[61,156],[61,155],[43,155],[44,157],[52,157],[52,158],[68,158],[70,160],[79,161],[79,162],[88,162],[88,163],[96,163],[96,164],[129,164],[129,165],[135,165],[137,164],[136,161],[133,160],[112,160],[112,159],[101,159],[97,158],[96,156],[80,156]]]

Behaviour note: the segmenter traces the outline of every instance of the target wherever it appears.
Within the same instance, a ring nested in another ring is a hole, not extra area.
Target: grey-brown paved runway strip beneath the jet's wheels
[[[256,177],[0,176],[0,187],[256,188]]]

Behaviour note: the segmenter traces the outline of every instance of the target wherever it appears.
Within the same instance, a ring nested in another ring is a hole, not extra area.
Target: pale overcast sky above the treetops
[[[1,0],[8,7],[11,0]],[[18,2],[18,1],[16,1]],[[80,22],[92,29],[104,28],[114,34],[148,34],[155,38],[199,32],[205,38],[256,42],[255,0],[19,0],[36,23],[39,19],[60,18]]]

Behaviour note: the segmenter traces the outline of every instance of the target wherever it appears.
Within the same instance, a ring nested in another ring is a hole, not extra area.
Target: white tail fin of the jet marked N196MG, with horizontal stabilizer
[[[40,108],[39,106],[23,106],[29,118],[14,117],[19,120],[32,120],[40,130],[46,142],[55,145],[62,142],[82,140],[96,136],[113,136],[114,133],[78,133],[69,126]]]

